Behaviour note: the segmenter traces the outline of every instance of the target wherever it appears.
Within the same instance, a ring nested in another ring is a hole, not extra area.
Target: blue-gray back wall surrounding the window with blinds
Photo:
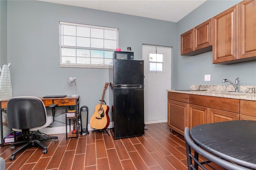
[[[75,87],[67,78],[76,77],[80,106],[88,106],[89,118],[100,103],[105,82],[109,82],[108,69],[59,67],[59,21],[118,28],[119,47],[125,51],[132,47],[137,60],[142,59],[142,43],[177,48],[173,22],[48,2],[8,1],[13,95],[72,95]],[[108,93],[106,90],[107,103]]]

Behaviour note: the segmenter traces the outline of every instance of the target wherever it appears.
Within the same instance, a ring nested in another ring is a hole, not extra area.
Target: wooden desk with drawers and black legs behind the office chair
[[[39,97],[39,98],[44,102],[45,107],[48,107],[51,104],[58,103],[57,107],[60,107],[60,106],[66,107],[66,112],[68,110],[68,107],[74,106],[74,107],[76,107],[76,114],[79,113],[80,96],[78,96],[78,97],[66,96],[66,97],[60,97],[60,98],[43,98],[43,97]],[[8,102],[8,100],[0,101],[1,147],[3,147],[3,144],[4,144],[2,110],[6,109],[7,102]],[[76,137],[78,137],[78,131],[79,131],[78,130],[78,117],[76,117]],[[67,122],[66,122],[66,139],[68,139]]]

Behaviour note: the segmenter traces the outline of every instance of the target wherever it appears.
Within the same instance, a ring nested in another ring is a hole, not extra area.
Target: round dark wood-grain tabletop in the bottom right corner
[[[198,125],[190,130],[194,142],[211,153],[256,169],[256,121],[226,121]]]

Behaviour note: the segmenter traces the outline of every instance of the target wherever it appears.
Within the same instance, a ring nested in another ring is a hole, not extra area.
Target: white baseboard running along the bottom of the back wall
[[[165,122],[167,122],[167,120],[147,121],[147,122],[145,122],[145,125],[153,124],[153,123],[165,123]],[[114,122],[110,122],[109,123],[108,128],[112,128],[112,127],[114,127]],[[69,131],[69,126],[67,126],[67,129]],[[71,130],[73,130],[73,127],[71,127]],[[90,124],[88,124],[88,130],[94,130],[94,128],[92,128],[90,126]],[[61,133],[66,133],[66,126],[42,128],[42,129],[40,129],[40,132],[43,132],[45,134],[61,134]]]

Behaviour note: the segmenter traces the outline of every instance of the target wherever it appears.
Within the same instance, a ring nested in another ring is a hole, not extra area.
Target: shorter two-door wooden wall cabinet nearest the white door
[[[194,56],[212,51],[212,19],[180,36],[180,54]]]

